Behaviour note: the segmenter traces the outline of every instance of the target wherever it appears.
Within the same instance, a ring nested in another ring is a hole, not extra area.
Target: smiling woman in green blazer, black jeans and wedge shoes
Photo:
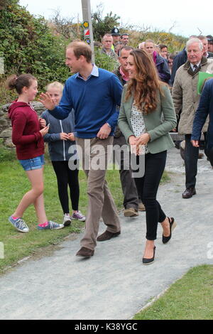
[[[155,259],[154,240],[158,222],[163,227],[163,243],[170,240],[176,226],[166,217],[156,195],[163,175],[167,150],[174,146],[169,131],[176,126],[175,109],[168,86],[160,82],[155,64],[143,50],[132,50],[128,58],[129,82],[124,86],[119,128],[136,155],[134,173],[138,193],[146,207],[146,247],[143,264]]]

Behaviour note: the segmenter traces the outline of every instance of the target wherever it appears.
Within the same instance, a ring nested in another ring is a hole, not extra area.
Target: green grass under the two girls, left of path
[[[55,173],[51,163],[45,164],[45,210],[48,219],[62,222],[62,208],[58,199],[58,188]],[[80,210],[87,211],[87,180],[83,171],[79,173],[80,180]],[[116,206],[122,208],[122,193],[118,171],[108,171],[107,181],[114,195]],[[30,183],[26,178],[18,161],[0,163],[0,242],[4,243],[4,259],[0,259],[0,273],[6,267],[16,264],[18,260],[34,254],[39,247],[50,244],[58,244],[67,235],[81,232],[84,222],[73,222],[72,226],[57,231],[38,231],[35,210],[31,205],[24,213],[30,232],[27,234],[17,232],[8,222],[8,217],[13,213],[26,191],[30,189]]]

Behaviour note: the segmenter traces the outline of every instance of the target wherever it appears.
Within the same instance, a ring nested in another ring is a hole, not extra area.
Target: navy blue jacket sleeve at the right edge
[[[210,92],[209,92],[209,82],[206,82],[200,96],[200,103],[195,112],[195,118],[192,127],[192,140],[199,140],[201,136],[202,127],[209,114],[209,103],[210,103]]]

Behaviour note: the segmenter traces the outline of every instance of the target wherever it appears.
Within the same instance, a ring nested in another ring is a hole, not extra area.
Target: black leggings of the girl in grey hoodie
[[[72,203],[72,210],[78,210],[78,203],[80,198],[80,187],[78,181],[78,169],[70,170],[68,166],[69,161],[52,161],[55,175],[58,181],[58,195],[62,210],[69,213],[69,196],[68,185],[70,188],[70,199]]]

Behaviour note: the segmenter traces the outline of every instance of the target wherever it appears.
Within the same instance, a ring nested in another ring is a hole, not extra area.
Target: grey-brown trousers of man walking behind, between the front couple
[[[118,151],[119,147],[123,146],[123,148],[126,147],[126,139],[123,134],[119,136],[118,138],[114,137],[114,142],[113,142],[114,147],[118,146]],[[116,151],[116,150],[115,150]],[[131,166],[125,166],[125,154],[130,157],[129,152],[123,152],[121,151],[121,154],[117,152],[118,154],[114,154],[115,160],[117,163],[119,163],[119,173],[120,173],[120,180],[121,180],[121,187],[123,190],[124,194],[124,208],[134,208],[138,210],[138,192],[136,188],[136,183],[134,181],[134,178],[132,177],[132,171],[131,171]],[[117,158],[119,156],[119,159]],[[118,161],[119,160],[119,161]],[[126,169],[128,168],[128,169]]]

